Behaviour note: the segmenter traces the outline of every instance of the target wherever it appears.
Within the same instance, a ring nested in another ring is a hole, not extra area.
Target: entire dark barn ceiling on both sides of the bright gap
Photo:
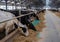
[[[49,6],[59,8],[60,0],[49,0]],[[0,0],[0,5],[6,5],[6,0]],[[44,7],[46,0],[7,0],[7,5],[31,7]]]

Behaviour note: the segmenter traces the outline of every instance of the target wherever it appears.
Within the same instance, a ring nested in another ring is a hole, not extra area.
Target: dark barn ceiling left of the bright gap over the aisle
[[[14,3],[13,3],[14,2]],[[19,5],[19,6],[34,6],[42,7],[45,5],[45,0],[7,0],[8,5]],[[0,0],[0,5],[6,5],[5,0]]]

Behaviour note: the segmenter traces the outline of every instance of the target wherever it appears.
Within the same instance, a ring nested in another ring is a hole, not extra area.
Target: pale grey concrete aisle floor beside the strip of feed
[[[43,29],[39,42],[60,42],[60,18],[53,12],[46,10],[45,12],[46,28]]]

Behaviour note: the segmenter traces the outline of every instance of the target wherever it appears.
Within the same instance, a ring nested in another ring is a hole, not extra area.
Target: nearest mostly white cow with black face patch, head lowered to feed
[[[0,11],[0,22],[9,20],[9,19],[13,19],[13,17],[15,17],[15,15],[13,15],[12,13]],[[10,21],[4,22],[4,23],[0,23],[0,32],[5,29],[6,35],[8,35],[9,31],[11,31],[15,28],[14,24],[16,24],[18,27],[21,27],[22,33],[25,36],[28,36],[29,33],[28,33],[27,26],[21,24],[17,19],[10,20]]]

